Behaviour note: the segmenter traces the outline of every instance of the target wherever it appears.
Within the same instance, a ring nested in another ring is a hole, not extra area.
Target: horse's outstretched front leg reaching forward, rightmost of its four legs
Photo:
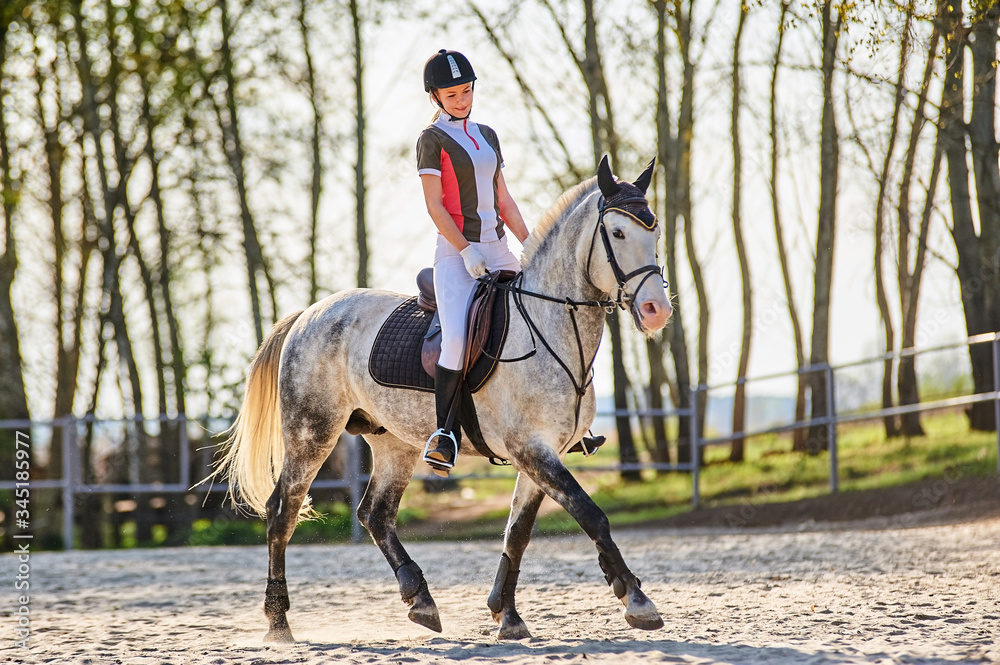
[[[597,545],[598,561],[604,578],[625,606],[625,620],[633,628],[656,630],[663,627],[656,606],[640,589],[640,581],[622,558],[611,539],[608,517],[580,487],[580,483],[559,460],[555,451],[537,439],[517,451],[514,460],[520,473],[530,477],[546,494],[566,509]]]

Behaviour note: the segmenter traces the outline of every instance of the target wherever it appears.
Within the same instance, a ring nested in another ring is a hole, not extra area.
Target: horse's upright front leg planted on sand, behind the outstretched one
[[[504,533],[500,566],[497,568],[493,591],[486,601],[493,613],[493,620],[500,624],[497,639],[520,640],[531,637],[528,627],[514,607],[514,591],[521,570],[521,557],[528,547],[528,541],[531,540],[531,529],[543,498],[545,493],[534,481],[523,473],[518,474],[514,498],[510,504],[507,531]]]

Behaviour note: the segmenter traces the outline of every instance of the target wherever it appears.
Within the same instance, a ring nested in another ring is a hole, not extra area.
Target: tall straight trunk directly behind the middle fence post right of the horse
[[[820,134],[819,219],[816,230],[816,268],[813,283],[812,350],[809,363],[823,366],[830,361],[830,287],[833,285],[833,245],[837,227],[837,187],[840,168],[840,137],[834,113],[834,65],[840,19],[835,16],[833,0],[823,2],[823,114]],[[826,376],[812,372],[812,417],[827,413]],[[806,443],[810,453],[829,445],[825,425],[812,425]]]

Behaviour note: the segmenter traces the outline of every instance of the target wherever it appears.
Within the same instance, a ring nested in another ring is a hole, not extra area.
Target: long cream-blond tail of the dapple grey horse
[[[240,413],[229,428],[229,438],[224,444],[226,452],[210,476],[226,479],[233,506],[247,505],[263,518],[267,517],[267,500],[281,475],[285,457],[278,398],[278,361],[285,338],[301,314],[296,312],[275,323],[257,349],[247,370]],[[299,516],[306,517],[311,512],[309,497],[306,497]]]

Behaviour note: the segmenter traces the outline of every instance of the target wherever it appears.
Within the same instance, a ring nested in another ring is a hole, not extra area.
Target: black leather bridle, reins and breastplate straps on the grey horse
[[[573,300],[568,297],[557,298],[554,296],[546,295],[544,293],[529,291],[528,289],[525,289],[521,286],[521,283],[524,281],[523,272],[518,273],[518,275],[509,282],[505,282],[502,284],[501,283],[495,284],[496,288],[503,289],[511,294],[512,299],[514,300],[514,306],[517,308],[518,313],[520,313],[521,318],[524,319],[525,323],[528,324],[528,334],[531,336],[532,348],[531,351],[517,358],[494,358],[492,355],[490,355],[489,352],[487,352],[485,349],[482,348],[482,345],[480,345],[483,354],[486,355],[490,360],[503,363],[514,363],[527,360],[528,358],[532,357],[538,352],[538,344],[535,341],[535,336],[537,334],[538,340],[541,341],[542,346],[545,347],[545,349],[552,355],[552,357],[556,359],[556,362],[559,363],[559,366],[562,367],[563,371],[566,372],[566,376],[569,377],[570,382],[573,384],[573,389],[576,391],[576,408],[573,414],[574,433],[576,432],[576,429],[580,425],[580,408],[583,404],[583,396],[587,394],[587,390],[594,382],[594,361],[597,359],[596,350],[594,351],[594,356],[590,359],[589,363],[584,358],[583,340],[580,337],[580,328],[576,322],[577,309],[579,309],[580,307],[600,307],[601,309],[604,310],[605,314],[612,314],[615,311],[615,307],[620,307],[622,310],[624,310],[626,305],[630,305],[634,298],[634,296],[629,295],[628,292],[625,290],[625,286],[630,279],[638,275],[642,275],[643,273],[646,274],[646,276],[643,277],[642,280],[639,282],[639,286],[635,288],[635,291],[633,293],[638,293],[639,289],[642,288],[642,285],[646,283],[646,280],[652,277],[653,275],[659,275],[660,279],[663,279],[663,268],[655,264],[646,265],[636,270],[633,270],[630,273],[626,273],[624,270],[622,270],[621,266],[619,265],[618,259],[615,256],[614,249],[612,249],[611,247],[611,240],[610,238],[608,238],[608,230],[604,224],[604,214],[608,210],[614,210],[616,212],[620,212],[624,215],[627,215],[628,217],[631,217],[637,224],[643,226],[644,228],[652,229],[655,227],[656,225],[655,219],[652,225],[648,225],[641,219],[639,219],[639,217],[633,215],[624,208],[624,206],[626,205],[638,205],[638,204],[642,204],[643,206],[648,205],[646,203],[646,198],[644,196],[633,196],[633,195],[613,196],[610,201],[605,200],[604,196],[601,196],[598,202],[597,225],[594,228],[594,235],[590,239],[590,252],[587,254],[587,272],[585,273],[585,276],[587,282],[591,286],[593,286],[597,290],[600,290],[596,286],[594,286],[593,282],[590,281],[590,261],[594,255],[594,243],[597,240],[597,232],[600,231],[601,239],[604,242],[604,251],[607,254],[608,263],[611,265],[611,270],[614,273],[615,279],[618,282],[617,298],[608,300]],[[480,277],[479,279],[480,281],[484,281],[486,278]],[[663,280],[663,284],[664,288],[667,288],[667,281],[665,279]],[[548,340],[545,339],[545,335],[538,328],[538,325],[535,323],[534,319],[532,319],[531,316],[528,314],[528,310],[524,306],[524,296],[535,298],[537,300],[545,300],[548,302],[558,303],[566,308],[566,311],[569,313],[570,321],[573,323],[573,334],[576,337],[576,348],[580,357],[580,366],[583,368],[583,373],[582,373],[583,375],[579,381],[577,381],[576,375],[573,373],[573,370],[571,370],[569,366],[566,364],[566,362],[559,357],[559,354],[555,352],[555,350],[549,344]]]

